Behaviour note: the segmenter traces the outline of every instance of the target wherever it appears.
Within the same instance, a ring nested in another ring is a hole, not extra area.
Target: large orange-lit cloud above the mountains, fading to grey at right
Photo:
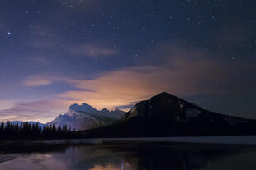
[[[126,67],[102,73],[92,80],[69,80],[79,90],[67,91],[60,97],[84,100],[98,108],[116,108],[168,91],[179,96],[192,94],[225,94],[253,90],[256,82],[250,62],[230,62],[203,50],[161,46],[163,62],[159,66]],[[156,49],[154,49],[155,52]],[[159,60],[161,60],[159,59]],[[216,61],[218,60],[218,61]],[[227,69],[229,68],[229,69]],[[239,77],[243,76],[243,82]]]

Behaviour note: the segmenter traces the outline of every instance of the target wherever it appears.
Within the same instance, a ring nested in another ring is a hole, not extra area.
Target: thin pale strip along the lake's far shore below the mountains
[[[186,144],[233,144],[256,145],[256,136],[183,136],[183,137],[136,137],[136,138],[92,138],[92,139],[64,139],[64,140],[2,140],[0,145],[12,144],[45,144],[45,145],[79,145],[119,142],[168,142]]]

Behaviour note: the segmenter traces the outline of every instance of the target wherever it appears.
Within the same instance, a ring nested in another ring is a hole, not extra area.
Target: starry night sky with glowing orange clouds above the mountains
[[[0,121],[166,91],[256,118],[254,0],[0,0]]]

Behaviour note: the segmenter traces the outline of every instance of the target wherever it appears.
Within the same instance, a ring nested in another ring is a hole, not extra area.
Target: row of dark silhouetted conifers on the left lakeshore
[[[37,123],[21,122],[2,122],[0,123],[0,139],[7,140],[26,140],[26,139],[70,139],[82,138],[83,131],[76,131],[68,126],[45,125]]]

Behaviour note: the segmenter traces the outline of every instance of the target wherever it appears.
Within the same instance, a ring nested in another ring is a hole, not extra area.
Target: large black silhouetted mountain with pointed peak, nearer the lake
[[[88,137],[256,134],[256,121],[207,111],[168,93],[137,103],[121,121],[85,131]]]

